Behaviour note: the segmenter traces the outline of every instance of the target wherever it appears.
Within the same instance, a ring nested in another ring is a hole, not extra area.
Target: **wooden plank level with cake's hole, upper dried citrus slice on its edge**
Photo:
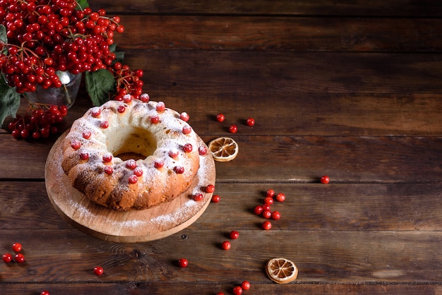
[[[442,178],[441,137],[230,136],[239,144],[239,155],[217,164],[219,182],[316,182],[323,174],[333,181],[364,183]],[[1,136],[2,179],[43,179],[50,147],[32,143],[30,154],[29,146]]]

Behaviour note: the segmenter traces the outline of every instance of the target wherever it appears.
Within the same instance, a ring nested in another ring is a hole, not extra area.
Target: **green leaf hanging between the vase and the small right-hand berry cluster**
[[[111,94],[117,91],[114,75],[106,69],[95,72],[85,72],[86,90],[92,104],[99,106],[109,100]]]

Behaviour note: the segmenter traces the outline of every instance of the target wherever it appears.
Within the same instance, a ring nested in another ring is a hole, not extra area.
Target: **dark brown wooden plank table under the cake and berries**
[[[205,142],[231,136],[240,152],[216,164],[221,202],[190,227],[112,243],[49,203],[44,163],[56,138],[15,140],[1,129],[0,251],[19,241],[26,257],[0,263],[1,294],[215,295],[244,280],[244,294],[442,293],[440,1],[90,5],[121,16],[118,47],[145,71],[153,100],[188,112]],[[80,96],[64,130],[89,107]],[[253,207],[269,188],[287,200],[264,231]],[[239,239],[224,251],[231,230]],[[177,267],[181,257],[189,267]],[[268,279],[274,257],[297,264],[295,282]]]

